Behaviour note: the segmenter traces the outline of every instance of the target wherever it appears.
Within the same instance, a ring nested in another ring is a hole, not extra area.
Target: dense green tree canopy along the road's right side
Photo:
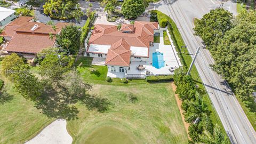
[[[243,11],[232,20],[228,11],[212,10],[198,22],[195,31],[210,47],[214,70],[239,97],[251,98],[256,91],[256,12]]]

